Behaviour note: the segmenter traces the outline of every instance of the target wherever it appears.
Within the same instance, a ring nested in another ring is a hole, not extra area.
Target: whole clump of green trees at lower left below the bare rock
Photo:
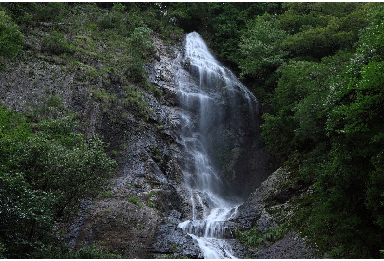
[[[96,196],[117,163],[99,137],[75,132],[71,116],[32,124],[1,106],[0,126],[0,255],[49,256],[55,221]]]

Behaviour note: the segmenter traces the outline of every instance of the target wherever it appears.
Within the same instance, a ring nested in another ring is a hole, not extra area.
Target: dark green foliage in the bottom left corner
[[[0,171],[0,242],[7,258],[34,257],[57,237],[52,193],[33,188],[22,173]]]

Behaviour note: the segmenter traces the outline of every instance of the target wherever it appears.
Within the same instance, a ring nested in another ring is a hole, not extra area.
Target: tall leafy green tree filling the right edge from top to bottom
[[[331,80],[331,148],[315,168],[304,229],[330,257],[370,257],[383,245],[383,6],[372,10],[348,66]],[[377,232],[372,232],[377,231]]]

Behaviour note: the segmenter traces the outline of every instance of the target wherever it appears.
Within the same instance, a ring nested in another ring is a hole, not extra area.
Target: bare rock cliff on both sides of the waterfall
[[[116,177],[105,188],[113,192],[112,196],[84,200],[78,219],[65,224],[68,230],[65,240],[74,248],[96,244],[127,258],[201,257],[197,243],[177,227],[178,223],[191,219],[180,171],[184,155],[174,74],[185,63],[181,55],[183,43],[164,46],[157,37],[154,43],[157,54],[146,70],[160,95],[156,98],[144,95],[143,101],[149,107],[148,119],[126,108],[106,107],[92,96],[91,83],[79,81],[74,72],[63,70],[60,59],[25,52],[14,61],[5,62],[8,71],[0,74],[0,98],[6,106],[26,111],[44,105],[47,95],[61,97],[64,110],[58,113],[76,112],[82,123],[80,130],[88,135],[102,135],[110,143],[110,155],[119,162]],[[102,87],[102,83],[96,83],[96,87]],[[118,85],[109,88],[111,93],[122,92]],[[254,138],[259,132],[259,129],[227,132],[235,138],[226,148],[227,161],[218,166],[232,188],[244,198],[274,170],[273,158],[261,139]],[[215,157],[215,152],[211,151],[211,155]],[[285,176],[275,175],[269,181],[274,178],[284,180]],[[279,222],[263,214],[266,202],[276,199],[266,196],[268,193],[261,186],[251,194],[240,207],[234,226],[246,229],[258,224],[263,228]],[[265,218],[260,218],[263,215]],[[241,243],[233,240],[233,245],[236,256],[249,254]]]

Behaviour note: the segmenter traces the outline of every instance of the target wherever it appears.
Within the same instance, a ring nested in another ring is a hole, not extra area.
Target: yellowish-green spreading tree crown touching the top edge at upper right
[[[367,6],[362,3],[286,3],[279,16],[291,32],[282,43],[295,56],[321,59],[338,50],[351,50],[358,30],[366,25]]]

